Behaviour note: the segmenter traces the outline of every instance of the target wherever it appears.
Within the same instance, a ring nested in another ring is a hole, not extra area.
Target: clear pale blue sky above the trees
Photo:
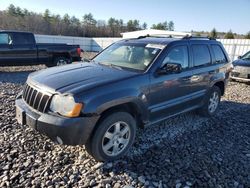
[[[228,31],[245,34],[250,31],[250,0],[0,0],[0,10],[14,4],[30,11],[82,18],[92,13],[95,19],[110,17],[138,19],[148,26],[174,21],[176,31]]]

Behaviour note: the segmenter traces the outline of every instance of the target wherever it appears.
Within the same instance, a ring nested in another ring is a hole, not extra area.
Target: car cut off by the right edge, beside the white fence
[[[231,79],[250,82],[250,51],[233,62]]]

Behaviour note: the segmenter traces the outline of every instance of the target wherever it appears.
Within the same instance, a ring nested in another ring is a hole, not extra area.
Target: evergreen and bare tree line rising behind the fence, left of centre
[[[36,13],[21,9],[11,4],[6,10],[0,11],[0,29],[30,31],[36,34],[65,35],[79,37],[120,37],[120,33],[147,29],[146,22],[109,18],[97,20],[93,14],[83,15],[82,19],[64,14],[53,14],[46,9],[44,13]],[[153,24],[152,29],[174,30],[173,21]]]

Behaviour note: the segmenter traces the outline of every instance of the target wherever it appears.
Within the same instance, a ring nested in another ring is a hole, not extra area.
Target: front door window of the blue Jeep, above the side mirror
[[[162,62],[161,67],[167,63],[178,63],[183,69],[188,67],[188,48],[187,46],[173,47]]]

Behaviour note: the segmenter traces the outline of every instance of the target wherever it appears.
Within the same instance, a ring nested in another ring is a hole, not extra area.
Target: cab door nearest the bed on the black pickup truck
[[[12,58],[16,64],[26,65],[37,62],[37,48],[32,33],[13,33]]]

